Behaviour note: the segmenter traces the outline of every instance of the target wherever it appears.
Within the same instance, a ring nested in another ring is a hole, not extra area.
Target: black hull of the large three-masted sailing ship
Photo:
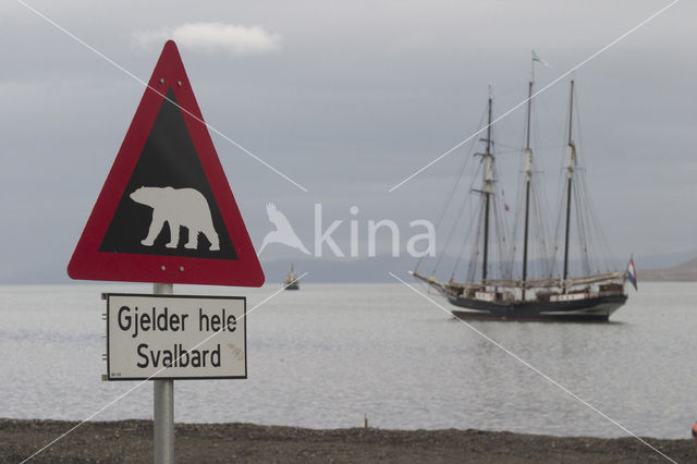
[[[489,302],[448,294],[448,300],[462,309],[452,309],[461,319],[548,320],[570,322],[607,321],[627,301],[626,294],[597,295],[572,301]]]

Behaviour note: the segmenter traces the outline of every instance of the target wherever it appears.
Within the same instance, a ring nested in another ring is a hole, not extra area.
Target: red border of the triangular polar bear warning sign
[[[143,151],[168,88],[174,91],[198,158],[234,244],[237,259],[99,252],[99,245]],[[164,44],[148,87],[87,220],[68,273],[73,279],[127,282],[260,286],[264,271],[249,240],[228,179],[174,41]]]

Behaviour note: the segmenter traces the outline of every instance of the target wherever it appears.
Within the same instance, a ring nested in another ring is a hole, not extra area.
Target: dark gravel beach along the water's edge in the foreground
[[[1,462],[22,462],[77,423],[0,419]],[[670,459],[697,462],[692,439],[645,439]],[[481,430],[315,430],[253,424],[176,424],[186,463],[638,463],[668,462],[634,438],[552,437]],[[152,423],[87,423],[32,462],[149,463]]]

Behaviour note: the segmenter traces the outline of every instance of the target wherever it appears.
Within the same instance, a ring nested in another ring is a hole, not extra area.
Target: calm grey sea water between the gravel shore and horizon
[[[252,308],[277,289],[174,291]],[[83,419],[137,384],[100,380],[107,291],[151,288],[0,286],[1,417]],[[633,432],[689,437],[697,284],[641,283],[610,323],[472,325]],[[175,381],[176,422],[626,435],[400,283],[282,292],[248,315],[247,338],[249,378]],[[95,420],[151,417],[146,382]]]

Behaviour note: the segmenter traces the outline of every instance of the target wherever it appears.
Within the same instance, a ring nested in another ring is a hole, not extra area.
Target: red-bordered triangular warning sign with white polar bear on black
[[[164,44],[68,273],[85,280],[264,283],[172,40]]]

